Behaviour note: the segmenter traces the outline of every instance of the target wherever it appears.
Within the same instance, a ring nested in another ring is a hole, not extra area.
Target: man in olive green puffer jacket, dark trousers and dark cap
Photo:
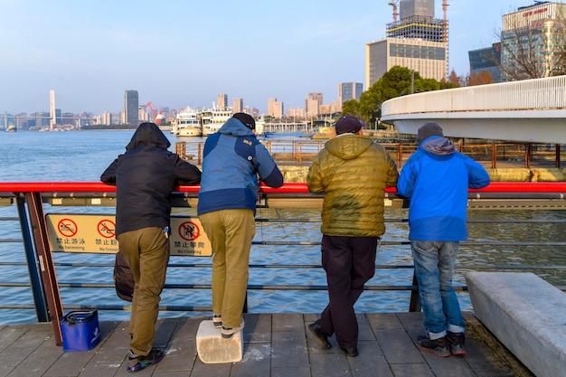
[[[358,355],[354,304],[375,273],[377,242],[385,232],[383,192],[399,177],[385,148],[358,135],[362,127],[358,118],[340,118],[336,137],[326,142],[307,174],[309,191],[325,193],[321,251],[329,297],[321,317],[308,327],[325,348],[335,334],[351,357]]]

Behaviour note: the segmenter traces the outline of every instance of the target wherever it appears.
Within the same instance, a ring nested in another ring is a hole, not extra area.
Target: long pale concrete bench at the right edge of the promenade
[[[566,294],[533,273],[468,272],[476,317],[538,377],[566,371]]]

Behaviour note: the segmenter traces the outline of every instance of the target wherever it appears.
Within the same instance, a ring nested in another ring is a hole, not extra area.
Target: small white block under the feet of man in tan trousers
[[[220,328],[212,321],[203,321],[196,332],[196,352],[203,363],[238,363],[243,355],[244,341],[241,331],[230,339],[223,339]]]

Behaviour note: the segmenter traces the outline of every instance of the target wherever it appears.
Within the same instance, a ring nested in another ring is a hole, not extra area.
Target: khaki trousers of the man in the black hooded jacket
[[[147,355],[154,344],[160,295],[169,262],[169,239],[163,227],[151,227],[118,235],[118,244],[136,282],[129,348],[133,353]]]

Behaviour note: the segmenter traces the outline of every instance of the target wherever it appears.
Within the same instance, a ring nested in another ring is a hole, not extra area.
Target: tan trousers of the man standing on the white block
[[[224,327],[240,325],[248,289],[248,263],[255,220],[251,210],[222,210],[199,215],[212,245],[212,311]]]

